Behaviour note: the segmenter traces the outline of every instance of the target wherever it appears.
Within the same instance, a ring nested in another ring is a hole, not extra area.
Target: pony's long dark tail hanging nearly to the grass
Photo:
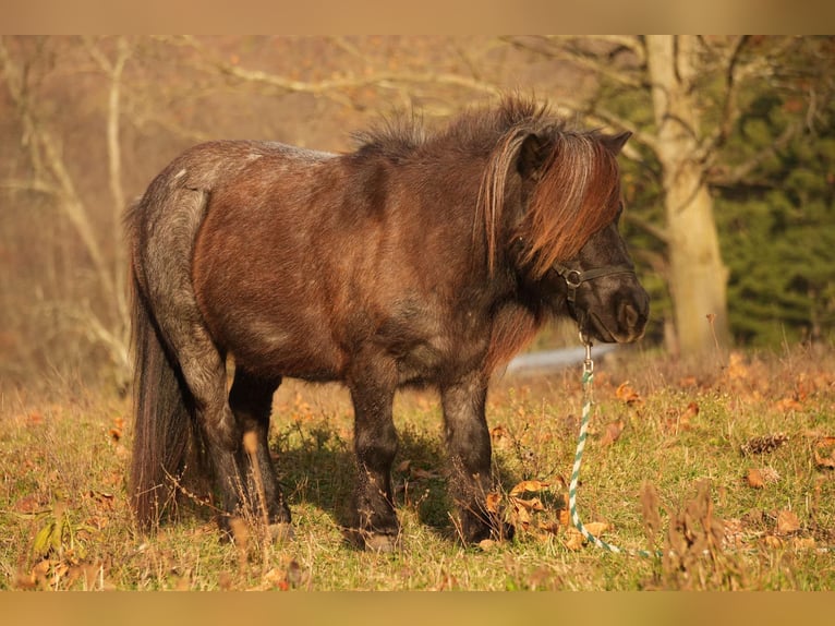
[[[146,297],[132,276],[134,430],[130,494],[143,531],[174,508],[186,460],[194,452],[193,400],[180,366],[161,340]]]

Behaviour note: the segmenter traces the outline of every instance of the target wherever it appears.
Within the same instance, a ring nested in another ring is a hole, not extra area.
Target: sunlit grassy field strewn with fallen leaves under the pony
[[[398,397],[402,549],[359,552],[340,531],[351,490],[343,390],[286,384],[271,447],[293,541],[257,521],[218,540],[211,510],[182,507],[153,538],[126,506],[130,399],[56,390],[0,397],[0,589],[37,590],[824,590],[835,589],[835,351],[731,354],[699,371],[622,352],[596,364],[579,510],[567,482],[580,372],[497,381],[489,399],[498,496],[511,542],[464,547],[445,493],[438,402]]]

